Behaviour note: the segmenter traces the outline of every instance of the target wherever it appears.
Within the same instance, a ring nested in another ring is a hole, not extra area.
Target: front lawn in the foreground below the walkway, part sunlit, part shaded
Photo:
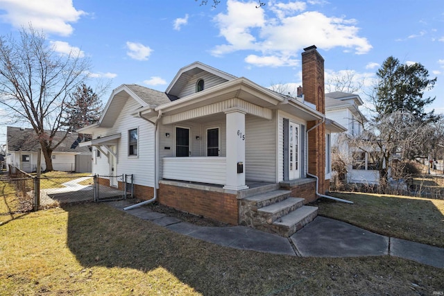
[[[444,270],[391,256],[301,258],[170,232],[106,204],[0,226],[5,295],[431,295]]]

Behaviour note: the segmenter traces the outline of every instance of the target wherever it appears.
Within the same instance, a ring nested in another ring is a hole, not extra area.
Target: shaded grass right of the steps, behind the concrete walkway
[[[321,199],[318,214],[371,232],[444,247],[444,200],[369,193],[330,193],[354,204]]]

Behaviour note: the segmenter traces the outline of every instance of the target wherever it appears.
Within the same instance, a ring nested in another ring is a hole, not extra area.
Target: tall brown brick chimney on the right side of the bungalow
[[[314,45],[302,53],[302,87],[305,101],[316,105],[316,110],[325,114],[324,59]],[[321,122],[307,122],[307,130]],[[308,134],[308,173],[318,176],[319,193],[328,191],[330,180],[325,180],[325,123]]]

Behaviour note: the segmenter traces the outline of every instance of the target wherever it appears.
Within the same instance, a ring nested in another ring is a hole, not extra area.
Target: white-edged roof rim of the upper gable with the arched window
[[[173,80],[171,80],[171,83],[167,87],[165,93],[172,96],[178,96],[178,94],[180,93],[182,88],[187,84],[189,79],[192,76],[195,76],[196,74],[201,72],[212,73],[213,75],[219,76],[227,81],[237,78],[236,76],[233,76],[219,69],[210,67],[207,64],[203,64],[202,62],[194,62],[192,64],[189,64],[188,66],[179,69],[176,76],[174,76]]]

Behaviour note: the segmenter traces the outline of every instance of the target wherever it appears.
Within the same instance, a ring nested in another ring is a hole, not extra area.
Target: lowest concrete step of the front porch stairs
[[[310,223],[318,214],[318,207],[303,206],[273,222],[273,230],[289,237]]]

